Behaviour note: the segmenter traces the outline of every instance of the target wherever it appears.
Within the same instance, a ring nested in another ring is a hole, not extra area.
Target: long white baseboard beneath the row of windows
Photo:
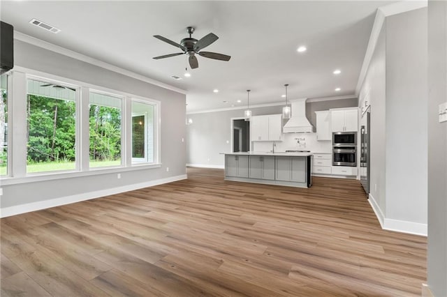
[[[16,206],[9,206],[0,209],[0,218],[10,217],[11,215],[20,215],[21,213],[29,213],[30,211],[39,211],[41,209],[50,208],[54,206],[61,206],[65,204],[72,204],[75,202],[85,201],[89,199],[94,199],[98,197],[115,195],[122,192],[128,192],[132,190],[137,190],[141,188],[152,187],[154,185],[161,185],[163,183],[172,183],[173,181],[181,181],[186,179],[188,176],[186,174],[171,176],[168,178],[156,179],[154,181],[147,181],[144,183],[135,183],[133,185],[124,185],[122,187],[110,188],[105,190],[98,190],[94,192],[86,192],[78,195],[71,195],[66,197],[60,197],[44,201],[36,201],[27,204],[20,204]]]

